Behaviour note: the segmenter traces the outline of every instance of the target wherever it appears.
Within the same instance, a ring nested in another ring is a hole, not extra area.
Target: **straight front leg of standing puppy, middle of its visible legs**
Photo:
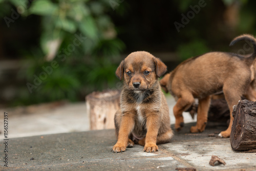
[[[208,110],[210,106],[210,96],[203,99],[199,99],[198,112],[197,112],[197,124],[191,126],[191,133],[203,132],[207,123]]]

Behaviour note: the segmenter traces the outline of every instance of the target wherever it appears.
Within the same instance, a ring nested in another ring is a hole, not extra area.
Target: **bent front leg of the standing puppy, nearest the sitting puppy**
[[[182,112],[188,109],[194,102],[194,97],[190,92],[183,92],[181,97],[178,99],[174,106],[174,116],[175,116],[175,130],[180,131],[184,126],[184,119]]]

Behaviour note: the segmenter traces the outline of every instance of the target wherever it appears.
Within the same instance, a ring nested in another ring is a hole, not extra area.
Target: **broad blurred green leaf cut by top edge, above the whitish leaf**
[[[58,6],[49,0],[33,1],[29,11],[37,15],[53,15],[57,12]]]

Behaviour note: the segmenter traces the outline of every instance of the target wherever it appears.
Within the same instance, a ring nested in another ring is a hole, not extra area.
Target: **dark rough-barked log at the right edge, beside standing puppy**
[[[248,151],[256,148],[256,102],[239,101],[233,106],[234,121],[230,143],[234,151]]]

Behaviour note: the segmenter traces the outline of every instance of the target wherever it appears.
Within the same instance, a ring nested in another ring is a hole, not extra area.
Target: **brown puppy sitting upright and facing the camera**
[[[123,89],[115,114],[118,140],[113,152],[123,152],[134,142],[144,146],[144,152],[155,152],[157,144],[172,138],[168,105],[158,81],[166,68],[148,52],[133,52],[120,63],[116,75],[123,79]]]

